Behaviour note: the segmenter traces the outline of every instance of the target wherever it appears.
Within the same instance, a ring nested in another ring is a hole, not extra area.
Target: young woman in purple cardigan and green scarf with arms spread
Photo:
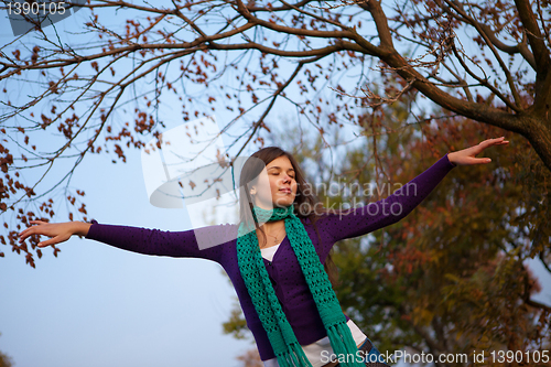
[[[387,366],[341,310],[328,277],[329,250],[338,240],[406,217],[454,166],[489,163],[475,156],[507,143],[501,137],[447,153],[389,197],[344,212],[321,207],[291,154],[264,148],[241,172],[239,226],[161,231],[96,220],[32,220],[35,226],[21,231],[20,241],[52,237],[39,244],[45,247],[79,235],[140,253],[216,261],[236,289],[266,367]],[[197,238],[222,245],[199,249]]]

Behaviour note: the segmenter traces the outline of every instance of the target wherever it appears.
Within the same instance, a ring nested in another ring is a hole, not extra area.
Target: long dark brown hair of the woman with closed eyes
[[[294,179],[296,181],[296,196],[293,202],[294,214],[299,218],[307,218],[310,220],[315,229],[317,239],[321,242],[322,239],[320,237],[320,231],[317,230],[317,226],[315,223],[320,218],[320,215],[317,215],[317,213],[324,213],[326,211],[323,208],[322,203],[317,199],[310,184],[306,182],[304,172],[301,170],[294,156],[278,147],[263,148],[253,153],[247,160],[247,162],[245,162],[239,177],[239,219],[241,223],[245,223],[248,226],[251,226],[253,224],[255,227],[262,234],[263,240],[266,241],[264,231],[259,227],[258,223],[253,220],[251,215],[253,201],[250,195],[250,186],[257,182],[258,176],[260,175],[262,170],[271,161],[280,156],[287,156],[294,169]],[[333,250],[329,251],[325,260],[324,269],[325,272],[327,272],[332,284],[337,285],[338,273],[336,266],[332,259],[332,252]]]

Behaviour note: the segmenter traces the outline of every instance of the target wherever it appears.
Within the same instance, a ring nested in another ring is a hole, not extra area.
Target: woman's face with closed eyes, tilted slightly
[[[296,181],[289,158],[281,155],[268,163],[250,193],[255,205],[263,209],[292,205],[296,196]]]

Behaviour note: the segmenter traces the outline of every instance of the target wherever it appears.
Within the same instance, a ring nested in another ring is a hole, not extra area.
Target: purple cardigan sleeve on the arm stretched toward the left
[[[91,220],[86,238],[143,255],[201,258],[220,262],[223,245],[234,239],[235,234],[234,225],[166,231]]]

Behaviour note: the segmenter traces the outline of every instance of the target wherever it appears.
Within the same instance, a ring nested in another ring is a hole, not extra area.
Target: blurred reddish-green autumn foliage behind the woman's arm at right
[[[326,207],[385,197],[446,152],[500,136],[510,144],[486,150],[489,164],[452,170],[401,222],[335,246],[345,312],[382,352],[549,349],[551,307],[532,299],[540,284],[526,260],[550,270],[551,174],[518,134],[453,117],[406,123],[407,97],[366,115],[363,143],[332,152],[338,165],[322,140],[283,141],[326,186],[376,187],[317,192]]]

